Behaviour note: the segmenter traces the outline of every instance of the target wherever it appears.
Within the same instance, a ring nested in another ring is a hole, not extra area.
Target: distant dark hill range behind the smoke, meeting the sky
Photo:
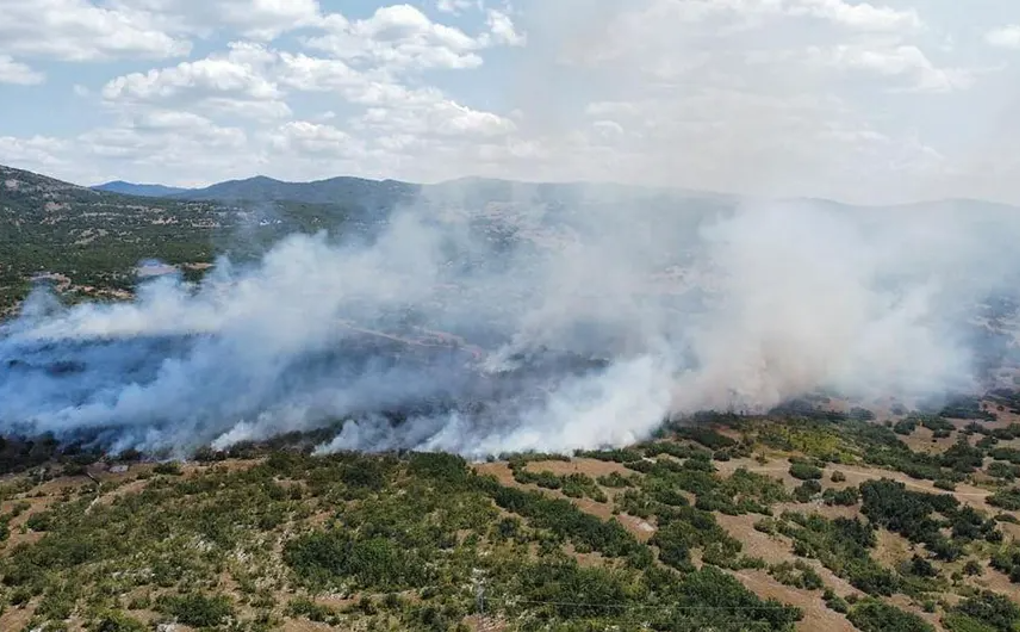
[[[113,183],[86,189],[3,166],[0,177],[0,315],[23,299],[33,280],[51,283],[70,300],[125,297],[146,260],[199,277],[217,256],[254,259],[293,233],[372,237],[405,205],[466,226],[493,248],[518,242],[554,248],[572,230],[606,216],[620,224],[632,218],[628,225],[649,230],[668,219],[662,227],[682,231],[678,215],[694,229],[701,216],[732,206],[624,187],[478,180],[422,187],[253,178],[152,197],[163,188]],[[633,211],[642,215],[633,218]]]

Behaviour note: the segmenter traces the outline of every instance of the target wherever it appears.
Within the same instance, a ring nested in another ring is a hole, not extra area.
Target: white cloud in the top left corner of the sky
[[[83,61],[187,55],[191,43],[151,26],[145,13],[85,0],[0,0],[0,52]]]

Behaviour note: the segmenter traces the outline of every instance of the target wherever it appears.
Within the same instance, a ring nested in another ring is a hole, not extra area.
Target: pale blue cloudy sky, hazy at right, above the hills
[[[1016,0],[0,0],[0,164],[1020,203]]]

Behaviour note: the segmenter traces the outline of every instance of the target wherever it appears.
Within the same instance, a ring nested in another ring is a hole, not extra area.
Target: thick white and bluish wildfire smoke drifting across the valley
[[[1020,239],[1012,211],[969,204],[469,200],[132,302],[39,295],[0,334],[0,432],[186,455],[342,424],[325,450],[481,456],[631,444],[673,412],[820,387],[969,391],[976,305]]]

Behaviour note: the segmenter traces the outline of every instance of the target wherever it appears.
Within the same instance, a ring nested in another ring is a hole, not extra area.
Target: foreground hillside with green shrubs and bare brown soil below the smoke
[[[1011,408],[706,414],[475,464],[7,441],[0,630],[1018,631]]]

